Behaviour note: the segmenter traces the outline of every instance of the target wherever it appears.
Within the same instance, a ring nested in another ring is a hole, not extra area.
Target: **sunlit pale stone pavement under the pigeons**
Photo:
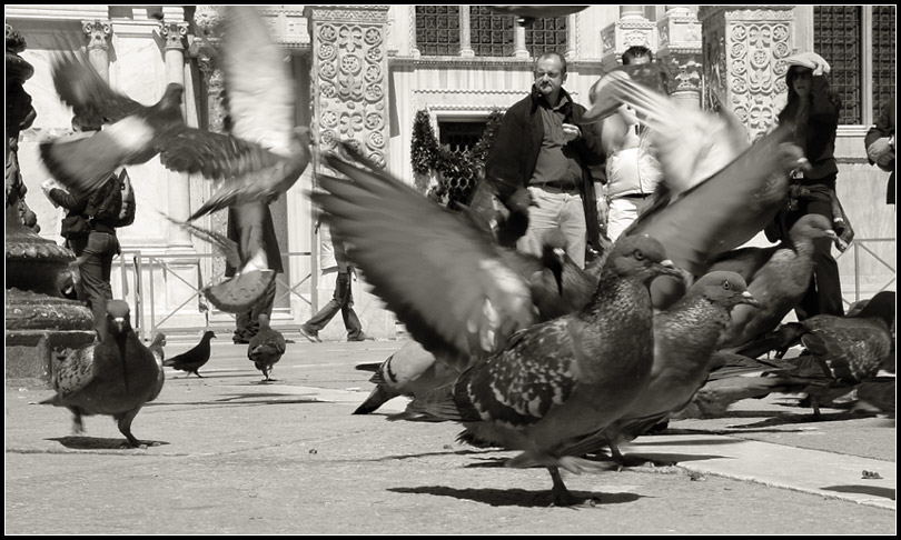
[[[454,423],[389,422],[398,398],[350,412],[396,341],[297,342],[261,376],[214,341],[202,379],[167,368],[120,449],[108,417],[70,434],[34,381],[6,384],[7,533],[884,533],[895,527],[893,418],[746,400],[623,450],[675,467],[567,476],[595,509],[548,508],[549,476],[455,442]],[[196,339],[170,338],[167,356]],[[864,472],[865,471],[865,472]],[[864,478],[868,477],[868,478]],[[879,477],[879,478],[871,478]],[[587,512],[587,513],[586,513]],[[600,513],[595,513],[600,512]]]

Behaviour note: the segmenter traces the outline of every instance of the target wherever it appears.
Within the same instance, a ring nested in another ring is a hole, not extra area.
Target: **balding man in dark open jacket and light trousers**
[[[578,127],[585,108],[573,102],[565,81],[563,56],[538,57],[532,92],[504,114],[485,174],[498,200],[513,210],[516,204],[509,201],[523,200],[525,190],[532,196],[528,228],[516,244],[521,251],[539,254],[545,231],[558,228],[567,254],[584,267],[586,248],[601,248],[588,166],[603,162],[603,151],[593,130]]]

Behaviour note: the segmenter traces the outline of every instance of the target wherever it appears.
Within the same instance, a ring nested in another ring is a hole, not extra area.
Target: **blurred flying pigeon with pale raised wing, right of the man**
[[[655,194],[624,234],[656,238],[679,268],[703,276],[707,259],[747,242],[772,221],[788,201],[790,172],[809,164],[803,150],[791,142],[791,124],[749,147],[731,114],[685,110],[652,90],[660,86],[659,70],[653,64],[623,66],[608,73],[595,84],[584,120],[597,122],[623,103],[640,112],[664,170],[657,189],[665,194]],[[691,137],[683,127],[691,129]],[[654,306],[665,309],[682,293],[679,281],[661,279],[652,289]]]

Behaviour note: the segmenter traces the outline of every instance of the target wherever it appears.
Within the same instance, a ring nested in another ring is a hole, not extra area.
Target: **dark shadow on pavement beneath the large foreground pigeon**
[[[547,508],[553,503],[553,494],[547,491],[526,491],[524,489],[496,488],[467,488],[456,489],[446,486],[420,486],[418,488],[388,488],[395,493],[425,493],[438,497],[453,497],[455,499],[482,502],[492,507],[523,507]],[[594,499],[596,506],[620,504],[634,502],[642,498],[636,493],[598,493],[588,491],[571,491],[577,498]],[[561,507],[571,510],[591,509],[590,506]]]

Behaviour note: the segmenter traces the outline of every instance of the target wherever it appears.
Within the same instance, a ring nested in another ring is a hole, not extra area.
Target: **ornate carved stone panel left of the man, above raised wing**
[[[313,7],[313,121],[319,149],[350,140],[385,167],[388,143],[387,6]],[[317,168],[321,164],[317,163]]]

